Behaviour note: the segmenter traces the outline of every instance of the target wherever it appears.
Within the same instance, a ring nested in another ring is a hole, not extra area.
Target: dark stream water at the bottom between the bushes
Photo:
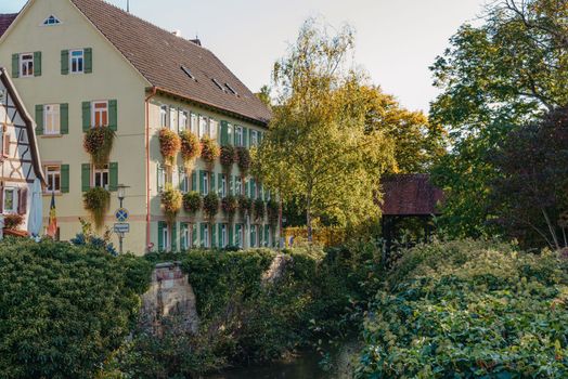
[[[324,370],[320,365],[322,356],[306,351],[288,361],[271,362],[264,365],[229,369],[214,374],[207,379],[349,379],[352,356],[358,351],[357,342],[345,343],[332,351],[332,368]]]

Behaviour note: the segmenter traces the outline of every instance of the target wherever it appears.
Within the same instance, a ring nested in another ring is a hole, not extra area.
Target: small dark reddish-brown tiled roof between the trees
[[[443,200],[443,192],[430,183],[427,174],[390,175],[384,178],[382,184],[383,214],[440,214],[437,206]]]

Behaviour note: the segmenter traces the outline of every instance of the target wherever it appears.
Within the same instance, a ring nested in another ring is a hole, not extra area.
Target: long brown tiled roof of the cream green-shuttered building
[[[72,2],[158,90],[262,123],[270,119],[264,104],[209,50],[102,0]],[[222,87],[228,83],[237,95],[220,90],[212,79]]]

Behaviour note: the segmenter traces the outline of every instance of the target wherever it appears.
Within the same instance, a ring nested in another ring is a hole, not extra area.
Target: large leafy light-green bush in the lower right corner
[[[564,378],[568,261],[492,241],[408,251],[365,319],[357,378]]]

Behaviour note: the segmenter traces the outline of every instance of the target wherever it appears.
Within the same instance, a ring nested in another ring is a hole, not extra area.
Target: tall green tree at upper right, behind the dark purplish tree
[[[441,223],[453,236],[494,233],[492,148],[513,129],[568,104],[566,0],[503,0],[478,27],[464,25],[431,67],[442,93],[430,122],[450,130],[452,148],[434,168],[447,193]]]

